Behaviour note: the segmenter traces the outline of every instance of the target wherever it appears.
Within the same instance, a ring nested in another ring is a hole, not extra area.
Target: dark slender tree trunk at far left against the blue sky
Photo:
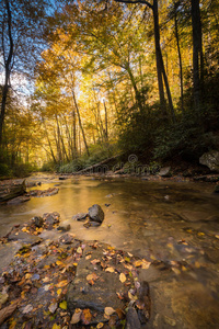
[[[4,123],[4,116],[5,116],[5,105],[7,105],[7,97],[9,92],[9,82],[10,82],[10,75],[11,75],[11,63],[12,63],[12,56],[13,56],[13,38],[12,38],[12,31],[11,31],[11,9],[9,4],[9,0],[4,0],[5,8],[7,8],[7,14],[8,14],[8,34],[9,34],[9,55],[8,58],[5,58],[5,49],[4,49],[4,42],[3,42],[3,35],[2,35],[2,49],[3,49],[3,59],[4,59],[4,67],[5,67],[5,76],[4,76],[4,86],[2,90],[2,100],[1,100],[1,112],[0,112],[0,147],[2,145],[2,132],[3,132],[3,123]]]

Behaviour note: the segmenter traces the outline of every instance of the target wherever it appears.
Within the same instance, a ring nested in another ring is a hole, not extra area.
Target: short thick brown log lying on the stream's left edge
[[[26,193],[25,180],[0,182],[0,202],[5,202]]]

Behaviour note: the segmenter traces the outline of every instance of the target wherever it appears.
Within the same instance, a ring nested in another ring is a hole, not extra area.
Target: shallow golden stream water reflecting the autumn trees
[[[148,328],[219,328],[219,196],[214,185],[150,182],[141,179],[35,177],[59,193],[1,205],[0,236],[14,224],[58,212],[79,239],[101,240],[143,257],[153,264],[140,270],[149,282],[152,320]],[[77,213],[100,204],[105,219],[85,228]],[[55,238],[58,231],[48,231]],[[0,256],[5,252],[0,250]]]

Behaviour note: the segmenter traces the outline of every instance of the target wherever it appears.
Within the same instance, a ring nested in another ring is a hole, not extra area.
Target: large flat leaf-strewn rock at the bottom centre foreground
[[[102,259],[103,249],[107,249],[107,246],[95,245],[95,248],[87,246],[83,250],[83,257],[77,266],[76,277],[68,288],[67,303],[72,314],[76,308],[94,310],[97,314],[95,321],[99,322],[105,321],[105,307],[124,308],[124,300],[117,298],[116,293],[127,294],[128,288],[119,281],[118,273],[103,271],[101,264],[91,263],[92,260]],[[88,254],[91,254],[91,258],[87,258]],[[116,268],[122,271],[122,266],[118,264]],[[88,275],[92,273],[96,277],[94,284],[88,282]]]

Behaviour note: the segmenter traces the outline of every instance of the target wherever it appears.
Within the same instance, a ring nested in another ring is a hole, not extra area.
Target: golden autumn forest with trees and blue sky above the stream
[[[0,7],[1,174],[218,149],[218,0]]]

